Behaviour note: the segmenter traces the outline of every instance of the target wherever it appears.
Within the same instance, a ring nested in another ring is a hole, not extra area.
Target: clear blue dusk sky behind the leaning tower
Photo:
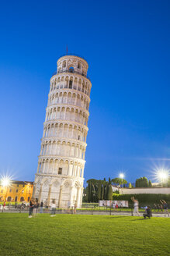
[[[169,1],[2,1],[0,173],[34,180],[50,77],[66,53],[92,81],[85,181],[170,168]]]

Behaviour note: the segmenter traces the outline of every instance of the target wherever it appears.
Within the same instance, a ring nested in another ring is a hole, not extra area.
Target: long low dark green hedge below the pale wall
[[[170,204],[170,194],[113,194],[113,200],[129,201],[129,204],[132,204],[131,197],[137,198],[141,206],[160,204],[162,199]]]

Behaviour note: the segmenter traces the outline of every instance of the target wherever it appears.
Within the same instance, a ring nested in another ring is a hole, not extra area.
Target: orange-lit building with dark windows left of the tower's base
[[[33,194],[33,182],[12,180],[9,187],[0,185],[0,201],[29,202]]]

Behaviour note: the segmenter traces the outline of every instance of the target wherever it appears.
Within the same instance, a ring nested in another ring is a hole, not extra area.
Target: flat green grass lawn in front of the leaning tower
[[[170,218],[0,214],[0,255],[170,255]]]

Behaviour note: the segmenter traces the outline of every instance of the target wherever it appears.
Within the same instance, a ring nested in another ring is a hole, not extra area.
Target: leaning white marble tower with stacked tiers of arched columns
[[[57,61],[43,123],[33,196],[58,207],[82,204],[88,108],[92,84],[88,63],[76,55]]]

